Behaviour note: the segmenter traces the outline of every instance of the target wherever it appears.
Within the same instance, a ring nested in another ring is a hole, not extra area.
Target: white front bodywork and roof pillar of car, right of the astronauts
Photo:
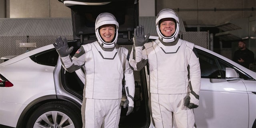
[[[246,72],[254,80],[201,78],[197,128],[252,128],[256,118],[256,72],[205,48],[195,46]]]

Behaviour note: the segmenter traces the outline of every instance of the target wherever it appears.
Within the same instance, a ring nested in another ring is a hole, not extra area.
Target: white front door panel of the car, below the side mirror
[[[194,109],[197,128],[248,127],[248,94],[242,80],[215,81],[201,79],[199,107]]]

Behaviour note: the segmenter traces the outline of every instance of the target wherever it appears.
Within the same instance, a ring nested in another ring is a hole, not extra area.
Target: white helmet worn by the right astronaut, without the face
[[[166,37],[164,36],[160,30],[159,30],[159,21],[161,19],[164,19],[164,18],[174,18],[176,20],[176,29],[175,29],[175,32],[172,36],[170,37]],[[157,31],[157,34],[158,36],[160,37],[160,39],[163,41],[163,42],[173,42],[178,34],[179,34],[179,30],[180,30],[180,24],[179,24],[179,18],[178,18],[178,15],[176,14],[176,12],[174,12],[174,10],[172,9],[169,9],[169,8],[164,8],[162,9],[158,15],[156,16],[156,31]]]

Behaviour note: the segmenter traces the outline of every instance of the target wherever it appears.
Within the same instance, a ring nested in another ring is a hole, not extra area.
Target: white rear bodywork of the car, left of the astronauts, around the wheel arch
[[[56,67],[46,66],[30,59],[32,55],[52,48],[53,45],[37,48],[0,64],[0,74],[14,84],[12,87],[0,87],[0,124],[16,127],[28,104],[44,96],[67,96],[82,104],[81,100],[55,84],[59,81],[54,80],[54,70],[60,72],[60,64]]]

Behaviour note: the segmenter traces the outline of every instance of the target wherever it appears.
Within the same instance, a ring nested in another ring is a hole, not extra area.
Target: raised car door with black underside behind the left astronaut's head
[[[96,40],[95,20],[102,12],[112,13],[118,23],[118,44],[132,43],[139,23],[138,0],[59,0],[71,9],[74,40],[82,44]]]

